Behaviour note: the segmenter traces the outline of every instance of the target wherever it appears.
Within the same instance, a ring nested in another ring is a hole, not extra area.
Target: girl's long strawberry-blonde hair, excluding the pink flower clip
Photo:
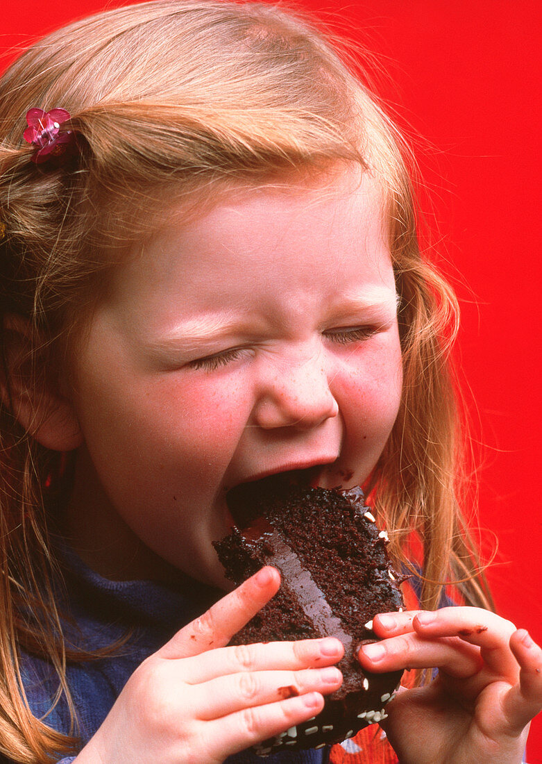
[[[402,140],[336,48],[271,5],[158,0],[76,22],[27,50],[0,81],[2,316],[34,329],[28,384],[38,384],[33,373],[50,373],[172,189],[188,205],[216,183],[358,163],[385,191],[405,366],[401,410],[369,490],[395,557],[410,565],[413,534],[421,543],[423,607],[437,607],[450,582],[488,605],[457,501],[457,304],[418,250]],[[31,107],[72,115],[77,152],[63,166],[31,163],[22,138]],[[6,345],[2,332],[7,379]],[[48,762],[73,740],[32,716],[18,645],[50,659],[59,697],[69,698],[66,660],[89,656],[66,652],[53,591],[44,484],[59,455],[23,432],[10,406],[0,418],[0,752]]]

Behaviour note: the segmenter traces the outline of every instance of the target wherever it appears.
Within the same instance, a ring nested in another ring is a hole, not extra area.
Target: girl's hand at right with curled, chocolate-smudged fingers
[[[383,613],[373,630],[382,642],[360,649],[364,669],[438,669],[386,706],[402,764],[520,764],[542,709],[542,649],[525,630],[477,607]]]

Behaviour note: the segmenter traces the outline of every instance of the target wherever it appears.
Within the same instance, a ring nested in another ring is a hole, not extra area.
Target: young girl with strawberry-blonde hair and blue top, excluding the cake
[[[229,488],[295,471],[363,484],[422,571],[360,662],[437,678],[352,761],[521,762],[542,651],[489,607],[458,507],[455,303],[362,80],[294,15],[215,0],[105,12],[2,78],[5,760],[253,762],[318,714],[342,646],[227,647],[279,575],[224,595],[211,545]],[[447,583],[462,604],[439,609]]]

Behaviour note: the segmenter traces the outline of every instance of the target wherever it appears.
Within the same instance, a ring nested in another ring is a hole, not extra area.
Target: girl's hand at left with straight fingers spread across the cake
[[[338,639],[226,646],[279,584],[262,568],[147,658],[74,764],[218,764],[316,716]]]

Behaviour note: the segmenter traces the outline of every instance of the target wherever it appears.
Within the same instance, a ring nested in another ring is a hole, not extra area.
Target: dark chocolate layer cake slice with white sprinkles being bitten
[[[255,746],[266,756],[281,749],[340,743],[386,717],[401,672],[369,674],[356,660],[360,643],[374,642],[376,613],[400,610],[399,584],[360,488],[286,487],[278,481],[244,484],[228,494],[236,526],[215,543],[235,584],[263,565],[282,576],[278,593],[231,644],[337,636],[343,685],[326,697],[318,717]]]

